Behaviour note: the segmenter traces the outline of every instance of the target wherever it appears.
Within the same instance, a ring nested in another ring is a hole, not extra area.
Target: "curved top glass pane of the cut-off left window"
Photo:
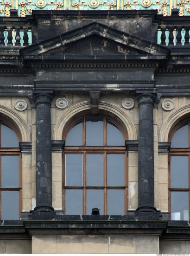
[[[1,148],[18,148],[19,141],[15,132],[6,124],[1,123]]]

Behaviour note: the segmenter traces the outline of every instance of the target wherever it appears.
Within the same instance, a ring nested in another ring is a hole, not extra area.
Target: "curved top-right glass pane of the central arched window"
[[[124,139],[120,130],[111,122],[107,121],[107,145],[123,146]]]

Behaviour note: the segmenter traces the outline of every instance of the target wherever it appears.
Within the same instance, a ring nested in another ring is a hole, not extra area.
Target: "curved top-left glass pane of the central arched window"
[[[66,146],[82,146],[82,121],[73,126],[66,138]]]

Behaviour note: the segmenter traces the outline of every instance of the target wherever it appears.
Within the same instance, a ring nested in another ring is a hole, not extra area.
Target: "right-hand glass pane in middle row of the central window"
[[[124,186],[124,155],[108,154],[108,186]]]

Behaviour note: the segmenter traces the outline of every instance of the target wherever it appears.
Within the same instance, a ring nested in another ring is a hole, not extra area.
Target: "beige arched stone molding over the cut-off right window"
[[[171,129],[181,120],[190,116],[190,104],[185,105],[167,117],[160,130],[159,141],[168,141]]]

